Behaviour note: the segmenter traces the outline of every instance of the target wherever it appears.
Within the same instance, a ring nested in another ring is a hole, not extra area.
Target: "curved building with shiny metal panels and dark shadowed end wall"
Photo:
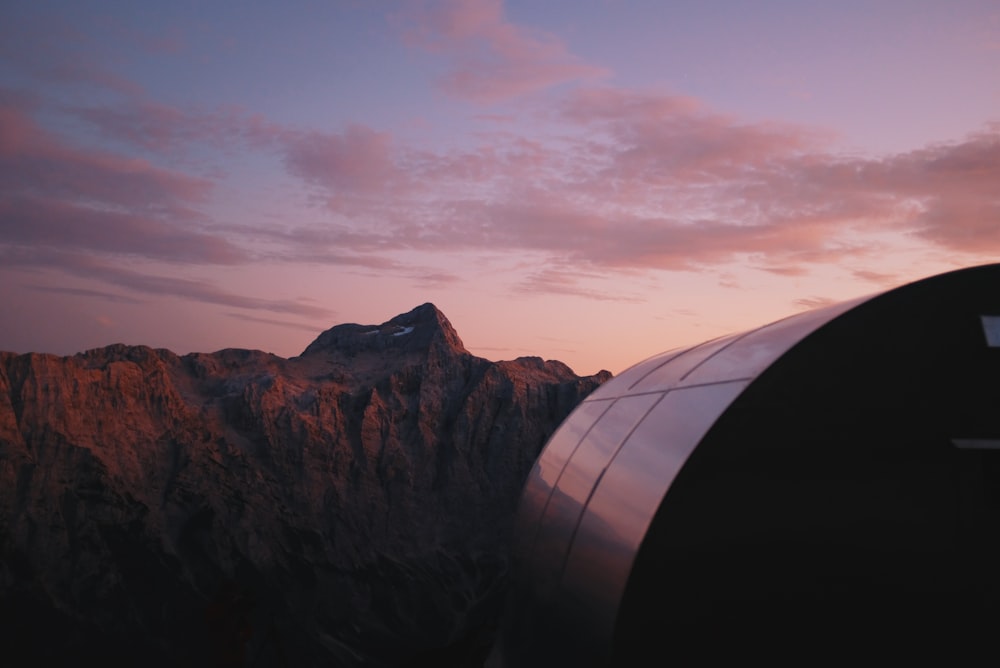
[[[515,542],[508,668],[985,647],[1000,264],[629,368],[545,446]]]

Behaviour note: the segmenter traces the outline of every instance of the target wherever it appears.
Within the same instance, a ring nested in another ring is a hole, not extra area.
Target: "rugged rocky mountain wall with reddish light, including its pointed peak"
[[[481,665],[521,485],[609,377],[475,357],[432,304],[291,359],[0,353],[5,656],[220,665],[228,588],[240,665]]]

